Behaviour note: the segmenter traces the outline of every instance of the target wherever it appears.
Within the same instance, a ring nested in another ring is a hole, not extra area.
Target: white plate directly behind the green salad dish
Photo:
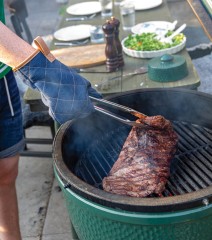
[[[154,32],[156,34],[166,33],[168,30],[174,30],[175,25],[165,21],[151,21],[139,23],[131,28],[134,34],[142,34],[143,32]]]

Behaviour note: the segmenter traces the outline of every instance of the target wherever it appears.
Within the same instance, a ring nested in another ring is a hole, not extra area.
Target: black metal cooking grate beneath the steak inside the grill
[[[165,197],[190,193],[212,185],[212,130],[177,121],[173,122],[173,126],[179,136],[179,144],[163,192]],[[94,140],[78,159],[75,175],[102,189],[102,179],[118,158],[129,131],[129,126],[121,125]]]

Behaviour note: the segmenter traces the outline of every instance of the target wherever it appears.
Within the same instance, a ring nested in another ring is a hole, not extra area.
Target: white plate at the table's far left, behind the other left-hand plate
[[[99,2],[82,2],[69,6],[66,11],[72,15],[89,15],[101,12]]]

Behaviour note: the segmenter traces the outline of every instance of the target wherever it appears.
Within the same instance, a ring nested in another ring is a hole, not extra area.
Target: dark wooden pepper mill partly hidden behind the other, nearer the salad
[[[119,26],[120,26],[120,21],[115,18],[111,17],[110,20],[111,24],[114,25],[114,40],[115,40],[115,45],[117,49],[117,58],[118,58],[118,67],[123,67],[124,66],[124,58],[123,58],[123,51],[122,51],[122,45],[119,39]]]

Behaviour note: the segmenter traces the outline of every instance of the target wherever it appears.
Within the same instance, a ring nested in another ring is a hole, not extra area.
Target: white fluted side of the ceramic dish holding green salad
[[[162,50],[155,50],[155,51],[136,51],[136,50],[131,50],[129,48],[126,48],[124,46],[124,42],[126,39],[127,38],[124,38],[121,42],[124,53],[126,53],[131,57],[136,57],[136,58],[154,58],[154,57],[160,57],[164,54],[174,54],[181,51],[186,44],[186,37],[184,37],[183,41],[179,45],[171,48],[165,48]]]

